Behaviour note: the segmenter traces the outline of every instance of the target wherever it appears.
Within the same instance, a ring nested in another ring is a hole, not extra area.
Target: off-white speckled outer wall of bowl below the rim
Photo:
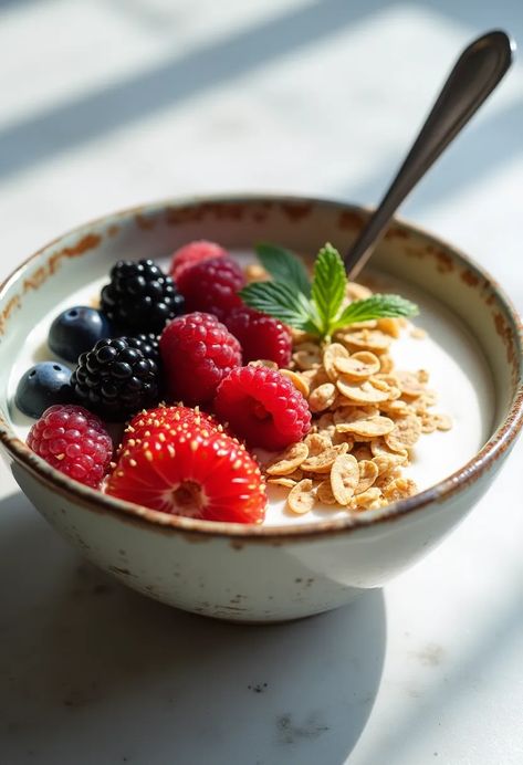
[[[20,488],[92,563],[170,606],[234,621],[282,621],[343,606],[422,557],[493,479],[377,525],[291,541],[206,536],[93,511],[51,491],[19,463]]]

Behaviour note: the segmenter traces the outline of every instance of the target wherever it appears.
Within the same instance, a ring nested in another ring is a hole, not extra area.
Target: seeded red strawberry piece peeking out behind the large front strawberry
[[[169,429],[177,426],[184,427],[184,425],[191,427],[193,423],[209,431],[215,431],[218,428],[221,432],[223,431],[218,420],[199,409],[191,409],[190,407],[156,407],[133,417],[124,431],[119,452],[125,451],[128,446],[134,446],[138,441],[150,437],[151,432],[158,428]]]

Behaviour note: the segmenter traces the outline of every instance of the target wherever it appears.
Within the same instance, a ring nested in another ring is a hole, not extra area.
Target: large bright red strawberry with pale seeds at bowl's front
[[[261,523],[260,469],[234,439],[196,422],[154,430],[127,449],[106,492],[128,502],[205,521]]]

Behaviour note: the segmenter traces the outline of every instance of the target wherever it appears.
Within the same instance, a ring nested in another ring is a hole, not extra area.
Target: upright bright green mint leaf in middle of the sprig
[[[322,333],[331,334],[347,286],[345,266],[339,252],[332,244],[325,244],[314,264],[311,296],[321,321]]]

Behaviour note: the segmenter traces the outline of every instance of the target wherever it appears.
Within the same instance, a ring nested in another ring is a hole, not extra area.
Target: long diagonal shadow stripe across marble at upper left
[[[381,8],[380,0],[321,0],[10,125],[0,130],[0,176],[242,76]]]

